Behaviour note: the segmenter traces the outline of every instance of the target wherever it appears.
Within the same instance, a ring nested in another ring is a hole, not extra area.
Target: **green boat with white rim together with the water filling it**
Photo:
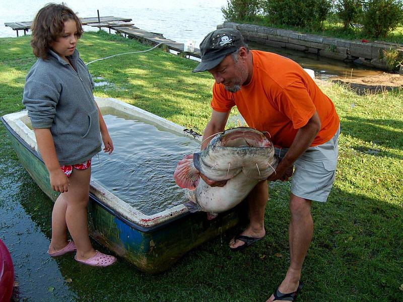
[[[184,154],[199,147],[199,136],[119,100],[95,100],[115,146],[112,155],[93,158],[88,222],[96,241],[140,270],[159,273],[239,222],[242,204],[214,220],[184,206],[184,190],[175,185],[173,172]],[[50,187],[27,111],[2,121],[22,165],[55,201],[59,193]]]

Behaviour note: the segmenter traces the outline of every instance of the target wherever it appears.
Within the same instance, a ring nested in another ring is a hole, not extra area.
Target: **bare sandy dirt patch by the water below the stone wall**
[[[383,72],[355,79],[339,78],[331,82],[341,85],[346,84],[357,94],[382,93],[385,90],[398,90],[403,87],[403,74]]]

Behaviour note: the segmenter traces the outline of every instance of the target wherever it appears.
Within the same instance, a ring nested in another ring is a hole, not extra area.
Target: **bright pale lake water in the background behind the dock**
[[[0,37],[15,37],[16,32],[5,22],[32,21],[37,11],[51,1],[0,0]],[[59,3],[59,1],[54,1]],[[164,34],[165,38],[185,43],[195,40],[198,45],[204,36],[224,21],[221,7],[226,0],[158,0],[158,1],[64,1],[79,17],[102,16],[131,18],[135,26]],[[97,30],[85,26],[85,30]],[[20,34],[23,34],[20,31]]]

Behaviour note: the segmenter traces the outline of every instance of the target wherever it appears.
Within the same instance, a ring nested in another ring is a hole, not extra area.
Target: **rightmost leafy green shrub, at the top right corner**
[[[402,0],[369,0],[364,3],[364,32],[374,37],[386,37],[403,21]]]

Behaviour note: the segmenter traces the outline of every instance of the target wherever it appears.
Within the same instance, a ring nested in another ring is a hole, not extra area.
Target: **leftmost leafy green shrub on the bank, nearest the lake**
[[[227,0],[227,7],[221,12],[227,21],[244,21],[252,19],[259,10],[259,0]]]

